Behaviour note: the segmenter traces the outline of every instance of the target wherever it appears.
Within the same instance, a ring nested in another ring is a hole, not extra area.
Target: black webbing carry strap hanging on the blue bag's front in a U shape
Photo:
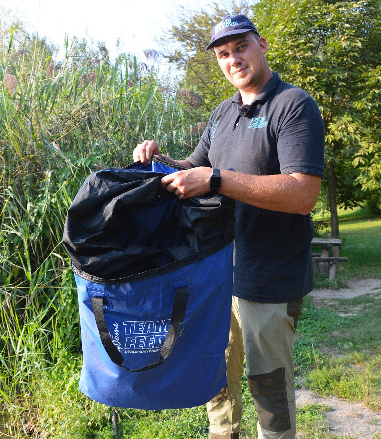
[[[93,297],[91,299],[91,303],[93,305],[96,327],[98,328],[100,339],[102,341],[104,349],[106,349],[106,352],[110,357],[110,360],[113,363],[118,364],[118,366],[122,367],[125,371],[128,372],[148,371],[163,363],[163,361],[167,358],[167,356],[169,356],[170,353],[172,352],[172,349],[176,344],[178,336],[180,335],[181,327],[184,321],[188,296],[189,296],[188,287],[176,288],[174,295],[171,323],[169,324],[169,329],[168,329],[167,337],[165,338],[164,345],[161,348],[159,361],[157,361],[156,363],[148,364],[147,366],[140,367],[139,369],[135,369],[135,370],[128,369],[128,367],[123,366],[125,359],[111,340],[110,333],[108,331],[106,320],[104,318],[104,313],[103,313],[103,297]]]

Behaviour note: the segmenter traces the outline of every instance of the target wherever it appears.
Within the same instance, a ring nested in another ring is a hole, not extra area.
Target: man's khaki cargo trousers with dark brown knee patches
[[[244,353],[259,439],[294,439],[296,408],[292,350],[302,300],[258,303],[233,296],[227,387],[207,403],[210,439],[238,439]]]

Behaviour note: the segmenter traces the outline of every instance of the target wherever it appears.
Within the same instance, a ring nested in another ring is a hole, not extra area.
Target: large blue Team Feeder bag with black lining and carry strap
[[[207,403],[226,385],[234,204],[179,200],[153,158],[91,174],[64,228],[78,287],[79,389],[146,410]]]

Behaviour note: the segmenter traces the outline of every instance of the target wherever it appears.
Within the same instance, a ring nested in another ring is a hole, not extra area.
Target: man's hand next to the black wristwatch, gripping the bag
[[[197,197],[210,192],[209,182],[212,171],[212,168],[199,166],[174,172],[161,179],[161,186],[180,199]]]

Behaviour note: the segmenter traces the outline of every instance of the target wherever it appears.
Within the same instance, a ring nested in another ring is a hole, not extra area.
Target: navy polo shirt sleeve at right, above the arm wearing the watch
[[[317,104],[306,96],[292,106],[278,133],[281,174],[324,175],[324,122]]]

